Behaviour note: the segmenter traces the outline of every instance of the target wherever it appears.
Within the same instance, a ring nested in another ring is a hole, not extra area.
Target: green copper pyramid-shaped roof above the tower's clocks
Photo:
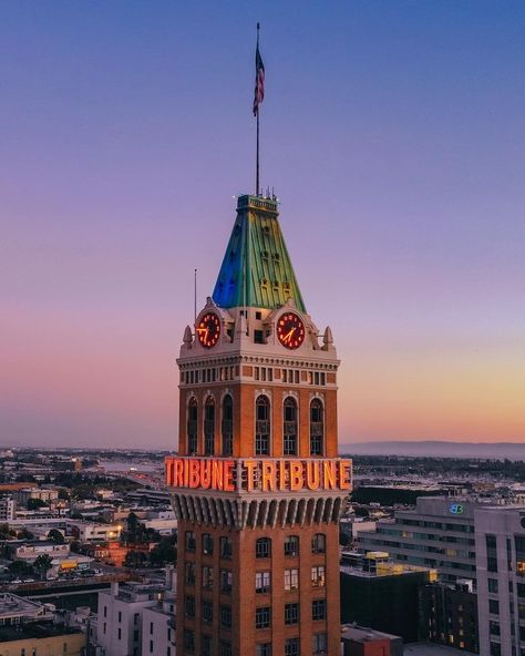
[[[277,217],[277,201],[238,198],[237,219],[213,295],[219,307],[274,309],[292,298],[306,311]]]

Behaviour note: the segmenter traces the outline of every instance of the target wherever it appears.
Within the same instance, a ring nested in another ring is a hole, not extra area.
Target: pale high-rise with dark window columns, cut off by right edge
[[[474,511],[481,656],[525,656],[525,505]]]

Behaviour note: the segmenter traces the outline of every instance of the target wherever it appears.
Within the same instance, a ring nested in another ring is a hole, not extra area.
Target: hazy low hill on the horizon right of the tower
[[[409,455],[431,458],[480,458],[483,460],[525,460],[525,443],[515,442],[444,442],[429,440],[405,442],[356,442],[339,444],[340,453],[350,455]]]

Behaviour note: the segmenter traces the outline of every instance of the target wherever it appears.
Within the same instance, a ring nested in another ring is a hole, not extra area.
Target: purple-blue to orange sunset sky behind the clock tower
[[[525,440],[523,0],[0,4],[0,443],[173,447],[254,186],[255,24],[340,441]]]

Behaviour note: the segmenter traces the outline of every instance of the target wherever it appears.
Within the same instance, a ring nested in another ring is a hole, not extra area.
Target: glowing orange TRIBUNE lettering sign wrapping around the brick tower
[[[351,460],[166,458],[172,488],[287,492],[350,490]]]

